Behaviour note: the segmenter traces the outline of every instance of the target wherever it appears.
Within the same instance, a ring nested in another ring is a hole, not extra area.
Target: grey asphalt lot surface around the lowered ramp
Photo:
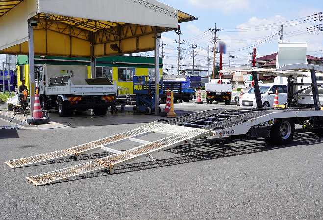
[[[198,108],[194,107],[192,111]],[[297,130],[285,146],[248,136],[209,137],[153,154],[155,161],[145,157],[120,166],[113,175],[102,171],[40,187],[26,177],[110,153],[97,151],[79,161],[67,158],[17,169],[4,164],[145,124],[138,122],[0,130],[0,219],[322,219],[322,131]],[[7,124],[0,120],[1,126]],[[118,149],[132,147],[132,142],[124,142]]]

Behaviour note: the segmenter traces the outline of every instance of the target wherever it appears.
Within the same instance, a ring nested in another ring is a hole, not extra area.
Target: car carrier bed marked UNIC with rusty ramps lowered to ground
[[[298,107],[297,103],[294,103],[292,99],[294,95],[299,93],[299,90],[291,90],[293,86],[298,85],[298,83],[296,83],[296,85],[293,83],[293,77],[295,78],[295,76],[299,74],[305,74],[304,71],[310,71],[312,77],[312,83],[310,85],[313,89],[314,100],[312,108]],[[323,84],[317,84],[315,77],[316,71],[323,73],[323,66],[295,64],[271,70],[271,74],[289,77],[288,88],[290,90],[288,91],[288,102],[278,108],[264,108],[261,106],[259,85],[256,72],[254,71],[252,74],[255,81],[254,87],[257,101],[257,108],[255,109],[212,109],[169,121],[162,119],[128,132],[116,134],[76,147],[14,159],[5,163],[11,168],[19,168],[66,157],[79,158],[81,154],[86,154],[98,149],[113,153],[112,155],[101,159],[27,177],[30,182],[39,186],[68,180],[77,176],[84,176],[101,170],[108,170],[113,174],[114,169],[120,165],[146,156],[153,159],[151,154],[196,139],[204,139],[208,136],[221,138],[248,134],[254,138],[265,138],[273,144],[288,144],[293,138],[295,124],[302,125],[304,129],[310,127],[323,128],[323,107],[320,105],[317,92],[317,87],[322,87]],[[139,137],[150,133],[166,134],[168,137],[153,142],[139,139]],[[143,145],[126,151],[118,151],[110,148],[113,145],[128,140],[142,143]]]

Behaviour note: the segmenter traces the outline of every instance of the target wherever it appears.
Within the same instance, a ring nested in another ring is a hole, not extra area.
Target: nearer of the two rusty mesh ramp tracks
[[[169,126],[163,127],[162,130],[166,129],[166,127]],[[176,125],[170,126],[169,128],[171,127],[173,128],[173,130],[177,130],[177,132],[181,131],[181,133],[174,134],[173,136],[166,137],[136,148],[132,148],[118,154],[103,157],[99,160],[63,168],[45,174],[30,176],[27,177],[27,179],[34,185],[39,186],[75,178],[77,176],[83,176],[104,169],[109,169],[110,173],[113,173],[113,169],[117,166],[131,162],[141,157],[149,156],[150,154],[157,153],[162,150],[166,150],[178,144],[185,143],[188,140],[194,140],[204,137],[210,132],[205,129],[185,128]]]

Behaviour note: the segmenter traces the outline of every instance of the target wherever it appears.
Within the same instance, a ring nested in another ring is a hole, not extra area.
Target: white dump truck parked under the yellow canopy
[[[61,117],[73,111],[92,109],[95,115],[104,115],[108,107],[115,108],[116,83],[107,77],[88,79],[86,65],[48,65],[36,72],[41,107],[56,109]]]

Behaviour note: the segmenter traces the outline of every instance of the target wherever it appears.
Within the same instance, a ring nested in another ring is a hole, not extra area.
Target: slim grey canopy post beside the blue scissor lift
[[[155,27],[155,115],[159,116],[159,38]]]

